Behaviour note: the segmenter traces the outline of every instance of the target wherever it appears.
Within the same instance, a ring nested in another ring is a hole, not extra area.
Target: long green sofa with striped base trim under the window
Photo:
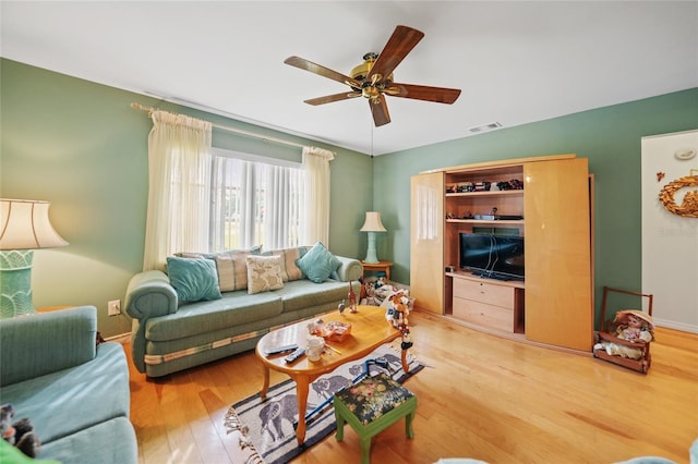
[[[160,377],[220,359],[254,349],[269,330],[336,309],[347,298],[349,281],[358,295],[363,273],[361,261],[330,255],[338,267],[323,279],[324,276],[318,278],[313,269],[304,267],[301,271],[296,267],[297,261],[314,256],[315,251],[318,255],[328,254],[317,244],[265,253],[257,248],[233,257],[230,253],[236,252],[224,252],[228,253],[227,261],[219,259],[220,255],[189,254],[189,258],[203,258],[196,265],[205,261],[213,272],[217,269],[220,279],[222,266],[233,261],[239,274],[245,256],[280,255],[282,286],[254,294],[250,294],[246,280],[243,285],[238,282],[232,291],[229,291],[232,284],[226,286],[220,280],[217,283],[220,292],[213,289],[210,300],[182,302],[181,288],[178,293],[177,283],[173,285],[170,281],[171,265],[179,266],[179,261],[168,260],[169,274],[159,270],[135,274],[129,282],[124,305],[133,320],[133,364],[148,377]],[[212,264],[217,258],[217,264]],[[244,276],[244,271],[242,273]]]

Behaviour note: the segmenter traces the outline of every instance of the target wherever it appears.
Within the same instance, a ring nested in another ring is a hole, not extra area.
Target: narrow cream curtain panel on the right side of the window
[[[303,147],[305,170],[305,218],[302,221],[302,243],[312,245],[321,241],[329,246],[329,161],[332,151],[316,147]]]

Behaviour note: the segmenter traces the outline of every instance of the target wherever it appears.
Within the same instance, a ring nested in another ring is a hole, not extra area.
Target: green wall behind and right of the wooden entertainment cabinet
[[[409,198],[410,176],[420,171],[576,154],[589,159],[595,180],[598,309],[603,285],[641,289],[641,137],[697,127],[698,88],[694,88],[376,157],[374,207],[383,211],[388,230],[378,242],[378,256],[395,261],[396,281],[409,283],[410,205],[405,198]]]

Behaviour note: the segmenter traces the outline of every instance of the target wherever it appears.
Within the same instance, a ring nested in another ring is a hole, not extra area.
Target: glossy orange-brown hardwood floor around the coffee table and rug
[[[659,328],[648,375],[501,339],[426,313],[410,315],[412,352],[428,367],[417,393],[416,437],[398,423],[373,439],[374,463],[613,463],[641,455],[688,463],[698,438],[698,335]],[[129,353],[130,346],[124,346]],[[286,377],[272,373],[272,384]],[[228,407],[255,393],[262,370],[244,353],[146,380],[131,366],[131,420],[142,464],[230,463]],[[294,463],[352,463],[349,427]]]

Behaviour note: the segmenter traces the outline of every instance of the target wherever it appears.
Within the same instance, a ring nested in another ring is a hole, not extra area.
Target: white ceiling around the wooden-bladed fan
[[[4,58],[380,155],[698,86],[698,2],[1,2]],[[453,105],[388,97],[373,127],[349,74],[398,24],[425,37],[395,81],[462,89]],[[373,136],[373,147],[372,147]]]

